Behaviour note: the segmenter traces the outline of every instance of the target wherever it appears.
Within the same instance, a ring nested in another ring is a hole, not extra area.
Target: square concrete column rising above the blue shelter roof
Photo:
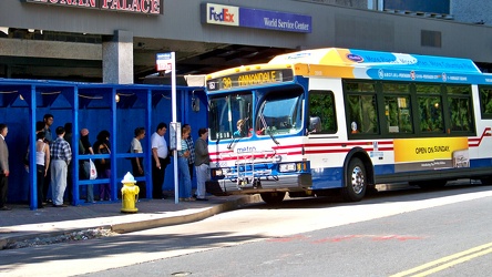
[[[133,84],[133,33],[115,30],[102,43],[103,83]]]

